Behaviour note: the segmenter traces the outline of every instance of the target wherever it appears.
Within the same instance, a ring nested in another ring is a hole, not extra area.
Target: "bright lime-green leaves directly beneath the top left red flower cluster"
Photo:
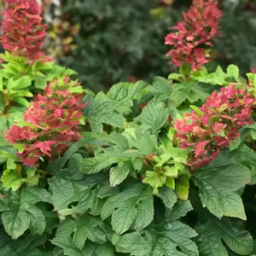
[[[0,115],[13,113],[29,106],[28,99],[44,90],[47,81],[56,76],[52,73],[53,62],[26,61],[26,57],[0,55],[4,61],[0,69]]]

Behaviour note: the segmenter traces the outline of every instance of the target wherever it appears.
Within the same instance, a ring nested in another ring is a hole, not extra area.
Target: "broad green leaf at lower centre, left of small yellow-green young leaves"
[[[152,190],[137,183],[123,192],[109,197],[102,207],[102,219],[112,214],[113,230],[123,234],[126,230],[143,230],[154,217]]]

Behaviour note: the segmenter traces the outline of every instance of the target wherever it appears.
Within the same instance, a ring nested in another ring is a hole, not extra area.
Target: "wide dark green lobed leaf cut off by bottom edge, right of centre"
[[[177,207],[180,212],[188,211],[187,204],[181,203]],[[172,212],[175,214],[174,210]],[[113,235],[112,242],[117,252],[133,256],[199,256],[195,242],[191,240],[195,236],[197,233],[188,225],[176,218],[168,218],[155,229],[148,227],[123,236]]]

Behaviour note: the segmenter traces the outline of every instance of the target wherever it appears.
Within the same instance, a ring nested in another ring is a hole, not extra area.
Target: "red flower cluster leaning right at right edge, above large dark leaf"
[[[240,137],[238,131],[243,125],[253,124],[255,99],[247,89],[236,89],[236,84],[231,83],[219,93],[213,91],[197,113],[184,113],[182,120],[176,120],[176,138],[180,148],[190,149],[190,166],[206,165],[221,148]]]

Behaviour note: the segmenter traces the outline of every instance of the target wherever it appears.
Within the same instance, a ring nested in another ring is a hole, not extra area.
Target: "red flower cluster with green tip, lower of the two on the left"
[[[24,113],[29,124],[20,128],[13,125],[4,137],[12,144],[19,144],[21,161],[27,166],[35,166],[44,155],[52,157],[52,152],[62,154],[81,137],[78,129],[82,118],[81,94],[69,92],[70,79],[55,80],[48,84],[44,95],[35,96],[34,102]],[[79,84],[72,84],[79,86]]]

